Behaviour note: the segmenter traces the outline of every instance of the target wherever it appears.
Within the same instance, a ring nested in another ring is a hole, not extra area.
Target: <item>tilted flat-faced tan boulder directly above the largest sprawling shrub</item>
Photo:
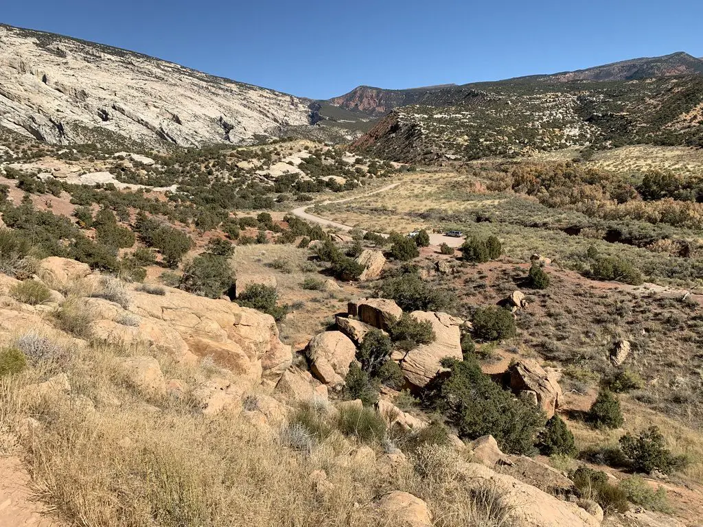
[[[463,358],[460,332],[463,320],[432,311],[413,311],[411,315],[420,322],[429,322],[437,337],[434,342],[411,350],[401,361],[401,369],[408,383],[422,388],[442,369],[440,362],[443,358]]]

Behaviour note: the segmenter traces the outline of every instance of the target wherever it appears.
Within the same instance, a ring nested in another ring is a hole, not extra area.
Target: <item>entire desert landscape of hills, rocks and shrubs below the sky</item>
[[[703,525],[702,74],[316,100],[0,25],[0,527]]]

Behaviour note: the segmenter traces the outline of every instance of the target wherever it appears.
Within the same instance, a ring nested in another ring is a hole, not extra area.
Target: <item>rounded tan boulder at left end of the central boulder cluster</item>
[[[325,384],[341,384],[356,356],[356,346],[340,331],[317,334],[308,344],[307,357],[315,377]]]

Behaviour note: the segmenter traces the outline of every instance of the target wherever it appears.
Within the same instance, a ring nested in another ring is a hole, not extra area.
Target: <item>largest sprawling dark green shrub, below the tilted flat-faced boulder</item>
[[[501,389],[476,360],[443,365],[449,372],[434,377],[423,394],[427,408],[444,414],[462,438],[491,434],[504,452],[534,454],[536,431],[546,421],[540,409]]]

